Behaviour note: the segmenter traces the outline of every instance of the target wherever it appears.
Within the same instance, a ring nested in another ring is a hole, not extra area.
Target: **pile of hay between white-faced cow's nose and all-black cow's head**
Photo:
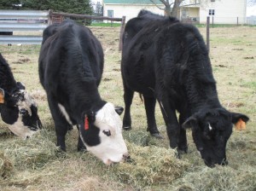
[[[177,159],[176,151],[155,146],[140,147],[127,142],[131,161],[114,166],[121,182],[145,187],[154,183],[172,182],[181,177],[189,163]]]

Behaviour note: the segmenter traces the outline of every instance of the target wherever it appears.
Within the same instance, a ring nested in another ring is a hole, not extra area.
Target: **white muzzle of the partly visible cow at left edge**
[[[11,130],[16,136],[20,136],[25,139],[27,137],[31,137],[33,134],[39,131],[31,130],[29,127],[25,126],[21,121],[20,115],[15,124],[9,124],[9,130]]]

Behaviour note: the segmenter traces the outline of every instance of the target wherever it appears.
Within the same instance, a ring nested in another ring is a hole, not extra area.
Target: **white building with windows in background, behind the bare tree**
[[[188,2],[194,2],[187,0]],[[201,5],[184,6],[178,14],[179,20],[206,23],[207,16],[213,17],[215,24],[245,24],[247,0],[203,0]],[[136,17],[141,9],[147,9],[155,14],[164,14],[164,5],[157,6],[150,0],[103,0],[103,15],[109,17],[126,17],[126,21]]]

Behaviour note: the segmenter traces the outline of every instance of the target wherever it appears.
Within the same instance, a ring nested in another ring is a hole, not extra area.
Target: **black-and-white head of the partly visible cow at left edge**
[[[0,89],[0,113],[3,122],[9,124],[16,136],[29,137],[42,128],[38,118],[38,107],[25,87],[17,83],[18,89],[9,94]]]

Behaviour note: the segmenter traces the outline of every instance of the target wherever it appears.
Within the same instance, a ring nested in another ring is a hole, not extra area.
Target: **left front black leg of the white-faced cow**
[[[55,133],[57,136],[56,145],[57,147],[60,147],[62,151],[66,151],[65,136],[67,134],[67,130],[72,128],[71,124],[68,124],[67,120],[62,115],[60,108],[57,105],[57,101],[48,96],[48,102],[50,113],[55,122]]]

